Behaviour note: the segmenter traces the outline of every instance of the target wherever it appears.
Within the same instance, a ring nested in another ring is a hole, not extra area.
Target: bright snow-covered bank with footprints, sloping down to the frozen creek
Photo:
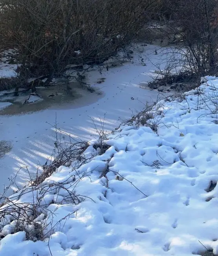
[[[218,79],[207,80],[158,102],[146,126],[141,116],[109,135],[104,154],[26,189],[13,205],[43,195],[36,221],[46,225],[46,241],[11,234],[7,215],[0,256],[188,256],[205,247],[218,254]],[[85,156],[95,152],[90,146]],[[84,200],[73,204],[69,194]]]

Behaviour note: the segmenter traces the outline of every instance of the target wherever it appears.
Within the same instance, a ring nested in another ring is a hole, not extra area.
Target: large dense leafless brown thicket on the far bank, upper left
[[[155,0],[3,0],[0,43],[16,48],[19,76],[64,72],[68,64],[101,63],[145,26]]]

